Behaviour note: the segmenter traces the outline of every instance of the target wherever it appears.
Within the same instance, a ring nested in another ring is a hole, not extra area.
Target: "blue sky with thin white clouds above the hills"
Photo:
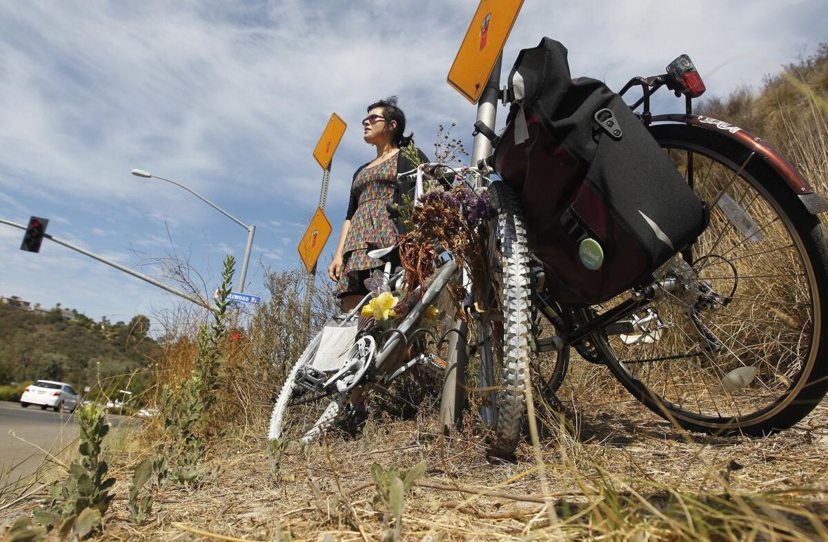
[[[373,157],[359,129],[368,103],[397,94],[426,152],[441,123],[457,122],[453,133],[471,147],[474,107],[445,75],[477,4],[2,2],[0,218],[50,218],[56,237],[162,280],[156,260],[175,253],[212,289],[224,255],[243,256],[246,232],[184,190],[129,173],[148,170],[257,226],[247,290],[262,294],[263,266],[300,265],[296,244],[321,179],[311,151],[330,113],[349,127],[333,163],[323,260],[351,175]],[[687,53],[708,92],[725,95],[815,50],[826,26],[823,0],[527,0],[504,72],[518,50],[551,36],[570,50],[574,75],[618,89]],[[21,240],[0,224],[0,295],[113,321],[180,303],[55,243],[22,252]]]

